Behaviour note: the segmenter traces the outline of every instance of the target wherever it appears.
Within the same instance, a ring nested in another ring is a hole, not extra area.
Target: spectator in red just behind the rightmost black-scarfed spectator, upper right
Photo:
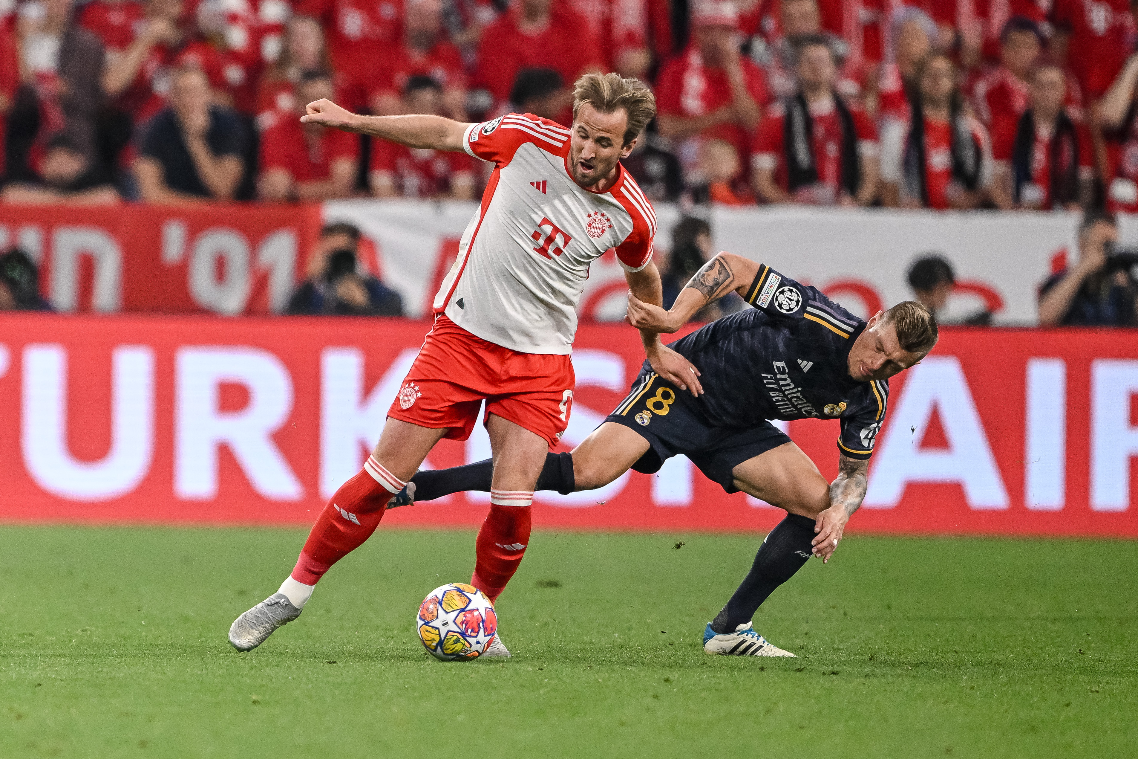
[[[1004,24],[1000,65],[981,77],[972,91],[976,116],[989,130],[1019,121],[1028,109],[1028,75],[1042,50],[1044,35],[1036,22],[1015,16]]]

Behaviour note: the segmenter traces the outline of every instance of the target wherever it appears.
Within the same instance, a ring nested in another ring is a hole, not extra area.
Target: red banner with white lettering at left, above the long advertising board
[[[319,205],[5,205],[0,249],[36,261],[57,311],[269,314],[320,223]]]

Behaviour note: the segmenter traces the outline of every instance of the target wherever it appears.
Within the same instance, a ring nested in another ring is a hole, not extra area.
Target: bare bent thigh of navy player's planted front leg
[[[830,508],[830,484],[793,443],[748,459],[731,473],[736,488],[792,514],[813,518]]]

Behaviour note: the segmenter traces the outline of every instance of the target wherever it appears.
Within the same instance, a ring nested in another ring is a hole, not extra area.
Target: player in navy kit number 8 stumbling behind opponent
[[[793,657],[759,635],[751,618],[807,559],[828,562],[838,548],[865,497],[889,378],[932,349],[937,322],[914,302],[863,321],[817,289],[729,253],[696,272],[670,311],[632,296],[627,319],[642,330],[675,332],[731,291],[754,307],[671,345],[698,368],[702,393],[679,390],[645,362],[632,393],[603,424],[572,453],[546,456],[537,489],[588,490],[628,469],[655,472],[666,459],[684,454],[727,493],[743,490],[784,509],[785,519],[762,542],[751,571],[708,624],[703,650]],[[838,478],[826,482],[774,419],[838,419]],[[488,490],[492,473],[490,461],[418,472],[391,505]]]

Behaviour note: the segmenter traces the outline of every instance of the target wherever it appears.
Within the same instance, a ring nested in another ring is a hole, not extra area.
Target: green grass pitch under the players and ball
[[[514,658],[443,663],[413,617],[473,535],[381,529],[236,653],[303,537],[0,528],[0,757],[1138,756],[1136,542],[851,535],[748,660],[700,637],[758,536],[536,533]]]

